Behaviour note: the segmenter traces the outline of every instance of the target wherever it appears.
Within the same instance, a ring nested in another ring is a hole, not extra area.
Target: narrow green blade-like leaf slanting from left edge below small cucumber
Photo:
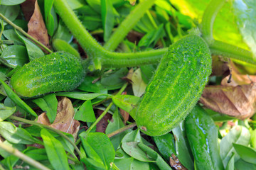
[[[28,113],[31,113],[33,116],[37,116],[36,112],[33,111],[32,108],[30,108],[24,101],[21,100],[21,98],[18,97],[17,94],[14,93],[14,91],[11,90],[11,88],[0,79],[1,84],[4,86],[4,90],[6,91],[7,96],[11,98],[11,101],[14,101],[19,107],[21,107],[23,110],[27,111]]]

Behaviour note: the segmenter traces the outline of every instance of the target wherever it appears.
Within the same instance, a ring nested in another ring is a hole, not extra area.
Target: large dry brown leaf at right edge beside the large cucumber
[[[200,102],[218,113],[250,118],[255,113],[256,84],[242,86],[206,86]]]

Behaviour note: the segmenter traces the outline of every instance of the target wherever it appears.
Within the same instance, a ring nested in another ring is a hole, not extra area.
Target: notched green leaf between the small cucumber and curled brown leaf
[[[36,103],[42,109],[43,112],[46,112],[46,115],[50,123],[53,123],[57,115],[58,107],[58,101],[55,94],[48,94],[41,98],[33,99],[33,103]]]

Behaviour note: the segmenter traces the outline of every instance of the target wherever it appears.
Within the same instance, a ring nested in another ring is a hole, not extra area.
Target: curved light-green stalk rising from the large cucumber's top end
[[[206,40],[208,45],[213,43],[213,23],[215,18],[220,11],[220,8],[223,7],[226,0],[212,0],[210,4],[206,7],[206,10],[203,13],[202,18],[202,34],[203,39]]]

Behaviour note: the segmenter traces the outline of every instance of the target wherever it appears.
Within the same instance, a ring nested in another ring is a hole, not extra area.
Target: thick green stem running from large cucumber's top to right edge
[[[256,64],[252,60],[252,53],[250,51],[218,40],[214,40],[212,45],[210,45],[210,52],[214,55],[222,55],[223,57],[230,57],[250,64]]]

